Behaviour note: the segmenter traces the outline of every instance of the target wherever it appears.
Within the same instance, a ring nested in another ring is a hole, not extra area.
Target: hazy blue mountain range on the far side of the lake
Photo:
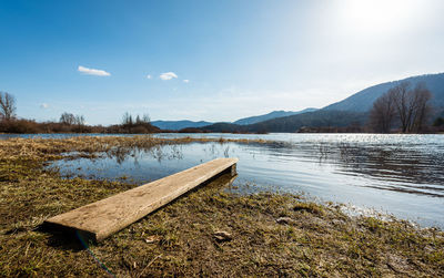
[[[309,127],[345,127],[364,125],[369,117],[369,111],[373,102],[390,89],[401,82],[410,82],[415,86],[424,82],[432,92],[431,103],[436,107],[436,112],[442,112],[444,107],[444,73],[426,74],[412,76],[404,80],[381,83],[364,89],[343,101],[333,103],[322,110],[307,109],[299,112],[273,111],[265,115],[251,116],[235,121],[234,123],[208,123],[208,122],[163,122],[157,121],[152,124],[167,130],[181,130],[184,127],[199,127],[208,132],[296,132],[303,126]],[[444,112],[442,112],[444,113]],[[169,125],[159,124],[171,123]],[[185,122],[183,125],[176,123]],[[205,124],[206,123],[206,124]]]

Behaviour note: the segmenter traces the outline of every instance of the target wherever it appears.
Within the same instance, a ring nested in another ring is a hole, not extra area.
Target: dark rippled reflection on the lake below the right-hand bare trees
[[[310,155],[310,148],[306,153]],[[336,164],[337,173],[362,175],[382,183],[371,187],[444,197],[443,153],[421,153],[401,147],[381,148],[340,143],[320,152],[320,163]]]

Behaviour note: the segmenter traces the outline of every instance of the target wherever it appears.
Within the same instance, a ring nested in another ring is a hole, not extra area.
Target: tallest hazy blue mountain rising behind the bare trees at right
[[[377,97],[404,81],[410,82],[411,86],[415,86],[418,82],[424,82],[427,89],[433,94],[433,97],[431,100],[432,105],[435,107],[444,106],[444,73],[437,73],[412,76],[404,80],[386,82],[370,86],[346,97],[343,101],[330,104],[322,110],[367,112],[372,109],[373,102]]]

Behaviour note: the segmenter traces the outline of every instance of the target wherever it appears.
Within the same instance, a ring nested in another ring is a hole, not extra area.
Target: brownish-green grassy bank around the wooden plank
[[[62,153],[119,155],[194,141],[0,141],[0,276],[444,276],[443,231],[349,217],[296,195],[238,195],[225,191],[226,176],[89,248],[40,230],[50,216],[135,186],[44,169]]]

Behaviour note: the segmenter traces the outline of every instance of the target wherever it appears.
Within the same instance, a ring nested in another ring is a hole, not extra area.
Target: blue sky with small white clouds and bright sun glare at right
[[[444,72],[441,0],[0,0],[19,117],[231,122]]]

